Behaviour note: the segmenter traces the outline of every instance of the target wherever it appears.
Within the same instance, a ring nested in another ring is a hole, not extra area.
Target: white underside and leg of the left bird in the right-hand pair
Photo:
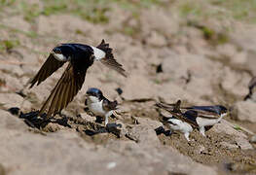
[[[171,123],[168,123],[171,130],[184,133],[185,138],[188,141],[190,141],[189,135],[190,135],[190,132],[192,132],[193,127],[189,123],[185,123],[177,119],[169,119],[168,121],[171,122]],[[172,123],[175,123],[175,124],[172,124]]]

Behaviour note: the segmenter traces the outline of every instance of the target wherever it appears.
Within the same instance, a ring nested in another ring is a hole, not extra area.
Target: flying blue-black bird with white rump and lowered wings
[[[39,115],[42,115],[48,107],[46,119],[61,112],[82,88],[87,70],[95,60],[99,60],[104,65],[126,77],[125,70],[116,61],[112,49],[109,48],[109,44],[106,44],[104,40],[97,47],[76,43],[56,46],[36,76],[29,82],[31,84],[30,88],[35,84],[38,86],[65,62],[68,62],[64,73],[42,106]]]

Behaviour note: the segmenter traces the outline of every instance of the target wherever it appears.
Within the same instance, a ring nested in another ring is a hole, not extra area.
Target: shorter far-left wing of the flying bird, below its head
[[[45,81],[49,76],[51,76],[59,67],[61,67],[65,62],[55,59],[53,53],[51,53],[45,63],[42,65],[36,76],[29,82],[32,88],[36,83],[37,86],[41,82]]]

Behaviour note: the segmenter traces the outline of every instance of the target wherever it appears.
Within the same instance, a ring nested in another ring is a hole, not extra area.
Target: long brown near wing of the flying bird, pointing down
[[[86,72],[87,69],[80,72],[74,71],[72,64],[69,63],[39,114],[43,114],[49,106],[47,118],[50,118],[65,108],[82,88],[85,82]]]

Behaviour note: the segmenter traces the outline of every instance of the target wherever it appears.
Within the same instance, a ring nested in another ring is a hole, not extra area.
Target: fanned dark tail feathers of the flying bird
[[[100,62],[105,66],[109,67],[110,69],[114,69],[124,77],[127,77],[125,69],[122,67],[122,64],[118,63],[117,60],[114,58],[112,53],[112,48],[109,48],[109,44],[105,43],[104,40],[97,46],[97,49],[102,50],[106,53],[106,56],[100,59]]]

